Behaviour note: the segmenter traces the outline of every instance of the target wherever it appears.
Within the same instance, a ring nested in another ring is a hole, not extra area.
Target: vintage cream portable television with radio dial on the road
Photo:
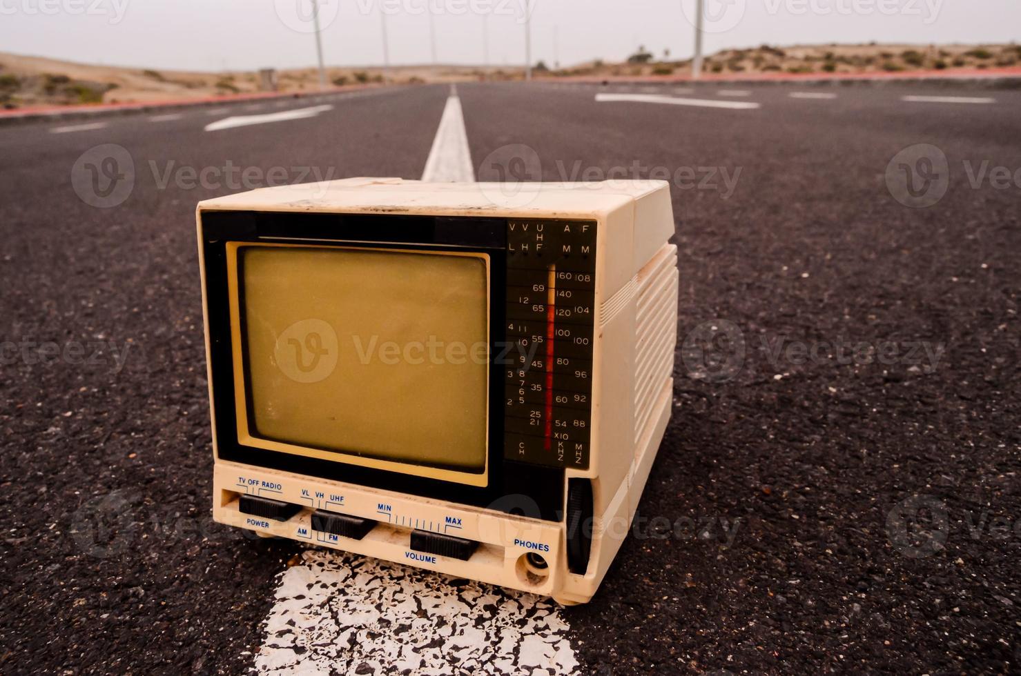
[[[198,205],[216,521],[591,599],[672,410],[670,195],[519,189]]]

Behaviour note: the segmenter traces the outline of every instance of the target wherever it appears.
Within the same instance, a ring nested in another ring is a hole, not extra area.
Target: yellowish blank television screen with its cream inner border
[[[484,477],[485,255],[241,243],[229,252],[242,444]]]

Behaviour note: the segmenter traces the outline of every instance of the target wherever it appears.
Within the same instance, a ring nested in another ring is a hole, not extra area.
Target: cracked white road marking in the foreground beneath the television
[[[570,674],[554,602],[315,550],[282,573],[255,669],[305,674]],[[406,670],[406,671],[405,671]]]

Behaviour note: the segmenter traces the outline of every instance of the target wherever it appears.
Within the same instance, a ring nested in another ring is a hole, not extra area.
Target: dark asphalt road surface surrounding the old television
[[[459,95],[480,180],[673,183],[675,415],[602,588],[562,612],[580,671],[1021,669],[1021,93]],[[929,95],[994,101],[903,100]],[[0,127],[0,672],[252,667],[302,548],[208,517],[195,203],[417,178],[446,98]],[[82,183],[102,144],[130,191]]]

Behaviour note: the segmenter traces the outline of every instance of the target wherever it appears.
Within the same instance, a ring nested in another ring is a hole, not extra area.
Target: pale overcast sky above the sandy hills
[[[638,45],[686,58],[695,0],[320,0],[331,65],[620,60]],[[311,0],[0,0],[0,51],[186,70],[315,63]],[[1021,0],[706,0],[706,49],[819,43],[1021,41]],[[431,11],[426,8],[432,7]],[[554,58],[554,45],[556,54]]]

